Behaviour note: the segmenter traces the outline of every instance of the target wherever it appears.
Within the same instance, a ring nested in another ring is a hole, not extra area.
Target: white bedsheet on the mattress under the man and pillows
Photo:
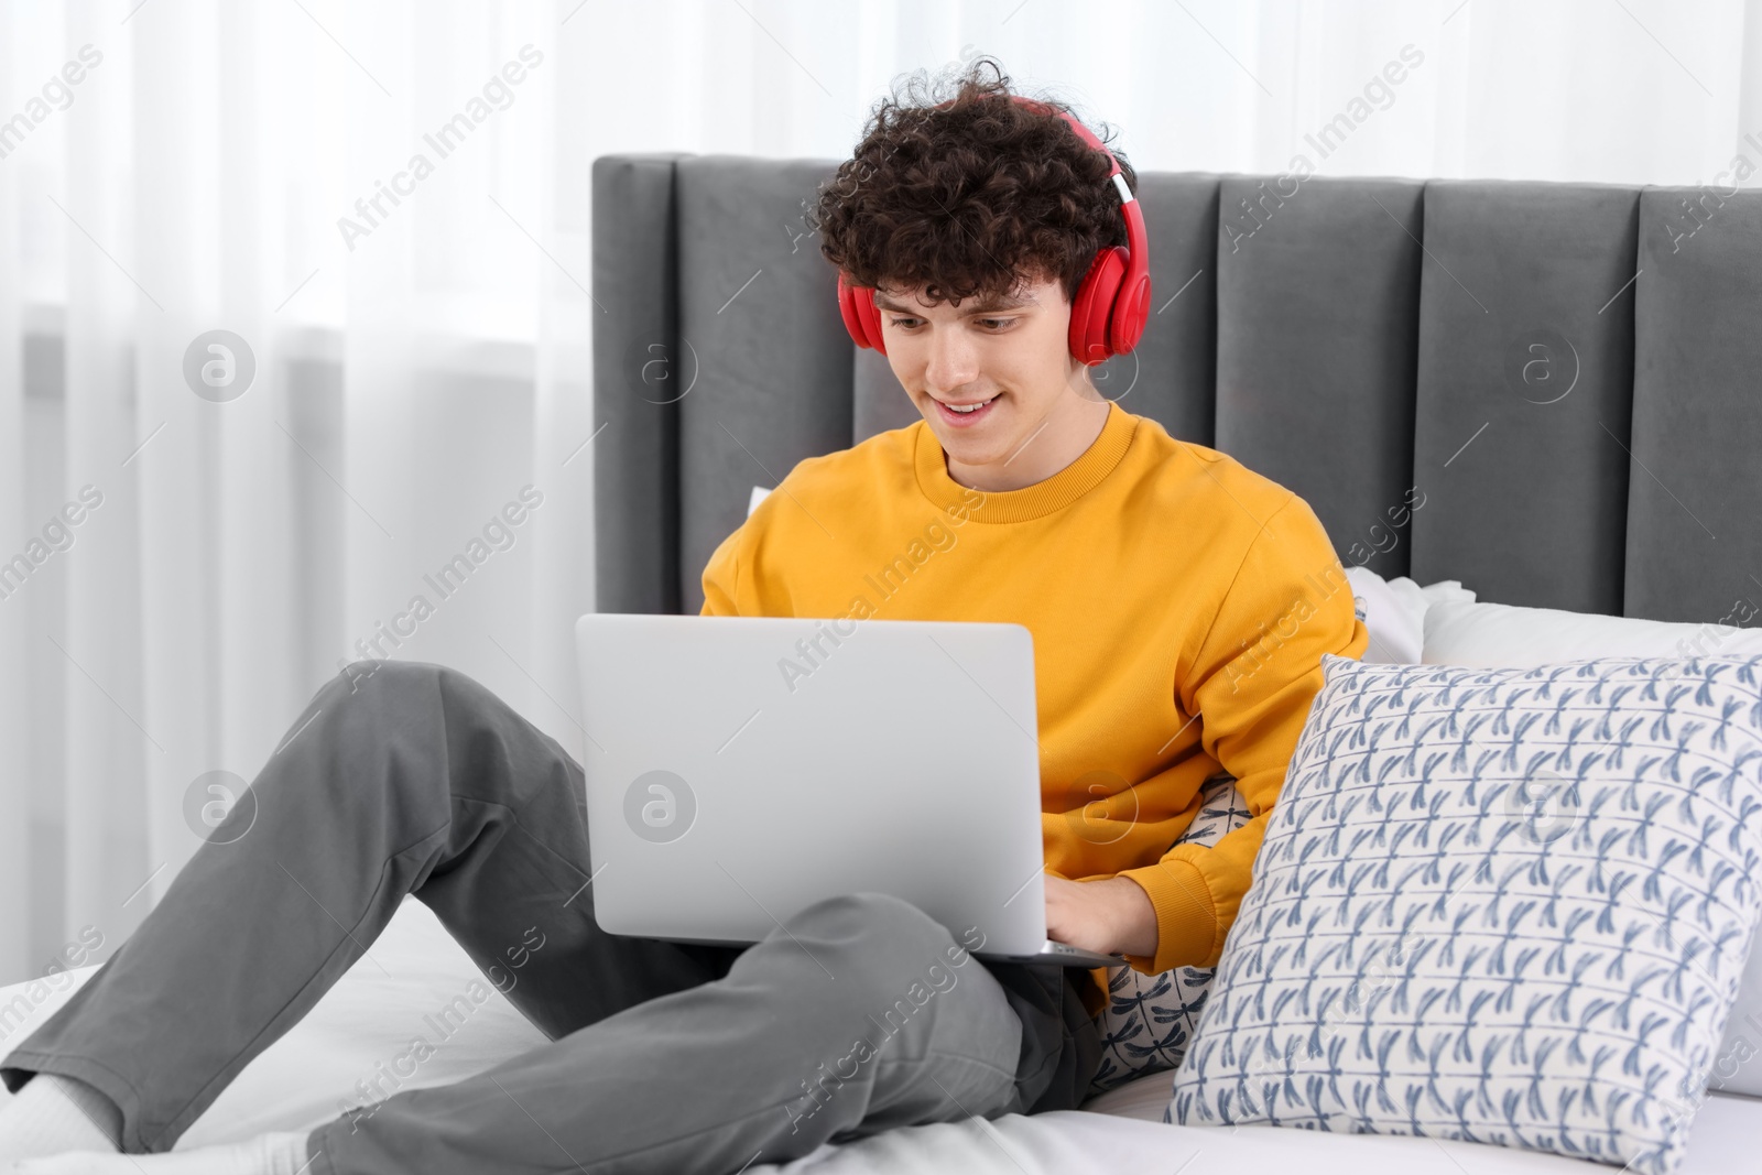
[[[0,1055],[16,1048],[92,976],[72,972],[42,1002],[26,985],[0,988]],[[446,1036],[435,1013],[472,983],[488,992]],[[23,1002],[19,1002],[23,1001]],[[414,1036],[433,1055],[411,1075],[395,1071]],[[345,1106],[400,1089],[444,1085],[544,1043],[495,992],[426,905],[405,900],[386,932],[317,1008],[240,1073],[178,1142],[178,1149],[234,1142],[271,1129],[310,1129]],[[363,1097],[358,1082],[379,1082]],[[1501,1147],[1388,1134],[1165,1126],[1172,1075],[1138,1078],[1082,1110],[914,1126],[821,1147],[788,1164],[754,1164],[747,1175],[1073,1175],[1085,1171],[1302,1170],[1304,1175],[1584,1175],[1581,1159]],[[0,1090],[0,1101],[5,1092]],[[1713,1094],[1695,1115],[1681,1175],[1753,1175],[1762,1163],[1762,1099]]]

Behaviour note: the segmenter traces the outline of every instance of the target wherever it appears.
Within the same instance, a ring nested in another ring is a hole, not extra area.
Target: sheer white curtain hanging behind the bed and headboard
[[[1140,169],[1762,166],[1753,0],[0,0],[0,981],[115,950],[358,641],[580,754],[592,159],[837,159],[978,53]]]

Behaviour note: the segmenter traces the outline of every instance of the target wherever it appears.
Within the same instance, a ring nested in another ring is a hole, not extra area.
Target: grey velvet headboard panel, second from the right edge
[[[1607,185],[1427,185],[1420,583],[1619,615],[1637,208]]]

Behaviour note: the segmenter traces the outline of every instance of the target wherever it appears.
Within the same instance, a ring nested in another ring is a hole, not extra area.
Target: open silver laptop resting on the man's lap
[[[754,942],[879,891],[980,958],[1126,965],[1047,937],[1024,625],[594,613],[576,652],[606,932]]]

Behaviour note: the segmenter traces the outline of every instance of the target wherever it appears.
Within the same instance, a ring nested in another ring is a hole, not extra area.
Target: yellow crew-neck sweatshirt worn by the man
[[[1369,643],[1307,502],[1119,403],[1022,490],[959,484],[923,421],[807,458],[715,548],[703,595],[712,617],[1027,627],[1047,872],[1144,886],[1145,974],[1218,964],[1322,654]],[[1253,819],[1175,846],[1219,770]],[[1094,1013],[1107,971],[1089,974]]]

